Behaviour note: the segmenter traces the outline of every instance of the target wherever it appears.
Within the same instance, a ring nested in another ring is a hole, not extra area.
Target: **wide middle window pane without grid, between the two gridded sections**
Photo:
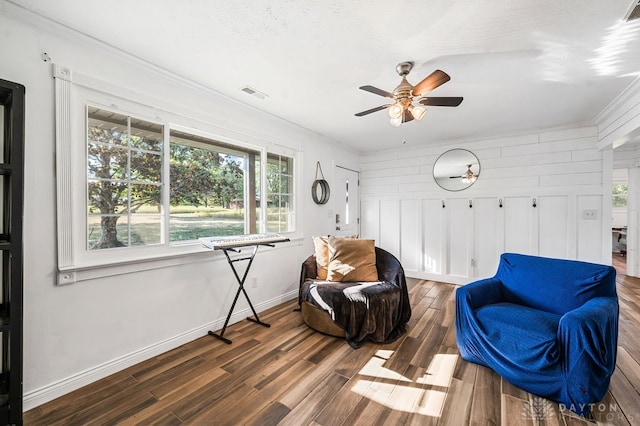
[[[171,241],[260,230],[260,152],[171,130]]]

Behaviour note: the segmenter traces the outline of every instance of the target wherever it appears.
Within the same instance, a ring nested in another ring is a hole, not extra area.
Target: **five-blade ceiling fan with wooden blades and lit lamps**
[[[362,117],[363,115],[389,108],[389,117],[391,117],[390,123],[394,127],[398,127],[402,123],[411,121],[414,118],[418,121],[422,120],[422,117],[424,117],[427,110],[419,105],[414,105],[414,98],[422,96],[425,93],[431,92],[437,87],[442,86],[444,83],[449,81],[451,77],[449,77],[449,75],[444,71],[435,70],[425,77],[420,83],[413,86],[407,81],[407,75],[409,75],[412,68],[413,62],[400,62],[396,66],[396,71],[398,72],[398,75],[402,77],[402,81],[395,89],[393,89],[392,93],[373,86],[360,86],[361,90],[393,99],[394,102],[359,112],[355,114],[356,117]],[[417,99],[416,102],[425,106],[456,107],[462,103],[462,98],[429,96]]]

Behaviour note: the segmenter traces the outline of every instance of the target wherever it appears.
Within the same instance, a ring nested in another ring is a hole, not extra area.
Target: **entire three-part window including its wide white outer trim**
[[[52,71],[59,284],[200,262],[203,236],[295,237],[300,151],[291,141]]]

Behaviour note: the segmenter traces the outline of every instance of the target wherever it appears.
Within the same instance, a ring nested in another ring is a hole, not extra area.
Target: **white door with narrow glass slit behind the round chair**
[[[334,186],[336,235],[357,235],[360,233],[359,173],[336,166]]]

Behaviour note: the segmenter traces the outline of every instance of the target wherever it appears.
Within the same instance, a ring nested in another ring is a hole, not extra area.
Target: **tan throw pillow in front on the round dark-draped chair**
[[[327,281],[378,281],[375,241],[329,237]]]

